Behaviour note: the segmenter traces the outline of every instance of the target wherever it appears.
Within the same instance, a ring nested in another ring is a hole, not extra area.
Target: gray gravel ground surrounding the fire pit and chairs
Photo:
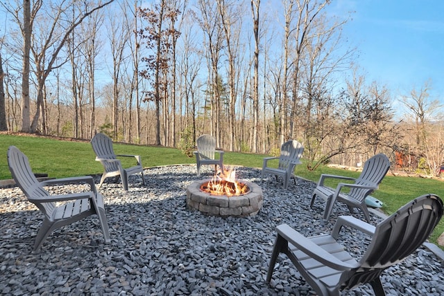
[[[145,174],[146,186],[139,176],[130,177],[129,192],[114,183],[100,188],[110,244],[103,243],[98,220],[90,216],[54,231],[37,254],[31,250],[42,214],[17,187],[0,189],[0,293],[314,295],[284,255],[271,284],[265,282],[276,225],[287,223],[310,236],[330,232],[337,215],[348,214],[336,205],[330,223],[321,225],[321,200],[309,209],[314,183],[298,179],[285,190],[273,176],[260,183],[259,169],[239,167],[239,178],[261,185],[264,205],[256,216],[223,219],[187,210],[186,187],[198,179],[195,166],[157,167]],[[201,178],[211,174],[204,168]],[[357,257],[368,243],[359,232],[343,230],[341,237]],[[386,294],[444,295],[443,266],[433,252],[420,248],[384,272]],[[343,295],[373,295],[373,290],[362,286]]]

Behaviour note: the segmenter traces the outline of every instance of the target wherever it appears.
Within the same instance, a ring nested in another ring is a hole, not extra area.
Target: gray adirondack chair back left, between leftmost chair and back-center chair
[[[123,190],[128,191],[128,176],[140,173],[142,175],[142,183],[145,185],[144,179],[144,167],[142,167],[142,160],[139,155],[132,154],[114,154],[114,149],[112,148],[112,140],[103,133],[96,133],[91,139],[92,149],[96,153],[96,161],[99,161],[105,171],[102,174],[99,188],[108,177],[117,177],[116,182],[119,178],[122,181]],[[135,158],[136,165],[133,167],[123,168],[121,160],[118,157],[130,157]]]

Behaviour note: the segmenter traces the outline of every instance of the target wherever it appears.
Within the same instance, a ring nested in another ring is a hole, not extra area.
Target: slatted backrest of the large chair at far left
[[[15,183],[19,185],[27,198],[33,200],[49,195],[42,184],[35,178],[28,157],[15,146],[8,148],[8,166]],[[54,203],[33,202],[45,215],[51,216],[55,209]]]

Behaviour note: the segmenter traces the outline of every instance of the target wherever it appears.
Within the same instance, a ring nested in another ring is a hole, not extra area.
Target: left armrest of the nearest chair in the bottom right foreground
[[[309,257],[325,264],[326,266],[329,266],[330,268],[334,268],[336,270],[350,270],[358,267],[358,263],[350,264],[337,259],[287,224],[278,225],[276,231],[281,237],[286,239],[293,246],[296,246],[305,254],[309,255]]]

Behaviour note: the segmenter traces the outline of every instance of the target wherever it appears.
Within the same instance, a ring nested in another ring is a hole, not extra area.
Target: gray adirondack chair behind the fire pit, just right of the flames
[[[280,156],[279,157],[266,157],[264,158],[264,163],[262,165],[262,176],[261,181],[264,180],[265,174],[272,174],[276,176],[276,181],[278,181],[278,177],[282,177],[284,179],[284,189],[289,187],[290,178],[293,177],[293,180],[296,184],[296,179],[294,177],[294,168],[296,165],[300,165],[300,158],[302,157],[302,152],[304,151],[304,147],[302,144],[296,140],[289,140],[284,142],[280,147]],[[278,167],[269,167],[268,161],[273,159],[279,159]]]

